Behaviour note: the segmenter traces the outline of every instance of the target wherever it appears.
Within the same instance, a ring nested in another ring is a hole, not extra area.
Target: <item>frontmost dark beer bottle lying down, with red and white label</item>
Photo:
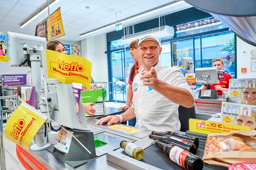
[[[182,148],[175,146],[174,144],[166,144],[158,140],[155,141],[155,145],[164,151],[164,154],[168,156],[173,162],[181,166],[186,170],[202,170],[204,163],[203,160]]]

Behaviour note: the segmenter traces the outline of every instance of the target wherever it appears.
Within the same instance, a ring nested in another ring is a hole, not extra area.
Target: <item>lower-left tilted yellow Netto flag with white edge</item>
[[[17,145],[29,149],[32,138],[46,119],[47,117],[38,110],[22,103],[6,123],[4,136]]]

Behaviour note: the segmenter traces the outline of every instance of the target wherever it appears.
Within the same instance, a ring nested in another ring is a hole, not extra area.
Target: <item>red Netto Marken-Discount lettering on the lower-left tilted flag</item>
[[[35,118],[31,118],[31,121],[25,127],[26,122],[24,121],[24,119],[19,119],[17,123],[14,123],[13,131],[10,132],[10,137],[18,141],[18,137],[19,135],[21,135],[19,138],[19,144],[22,145],[23,137],[26,135],[28,130],[33,126],[33,123],[35,123],[35,121]]]

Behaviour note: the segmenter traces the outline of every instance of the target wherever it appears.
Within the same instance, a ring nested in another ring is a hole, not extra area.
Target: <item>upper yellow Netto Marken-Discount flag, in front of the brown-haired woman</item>
[[[42,56],[45,79],[54,78],[64,84],[76,82],[91,88],[91,61],[49,49],[43,50]]]

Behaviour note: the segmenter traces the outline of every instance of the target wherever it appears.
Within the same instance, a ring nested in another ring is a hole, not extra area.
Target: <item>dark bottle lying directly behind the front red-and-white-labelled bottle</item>
[[[187,142],[187,141],[183,141],[179,138],[176,138],[176,137],[171,137],[171,136],[157,136],[157,135],[154,135],[154,134],[150,134],[149,135],[149,138],[150,139],[153,139],[153,140],[159,140],[160,142],[164,142],[164,143],[171,143],[171,144],[174,144],[182,149],[185,149],[189,152],[191,152],[192,154],[196,154],[197,153],[197,147],[195,146],[194,143],[190,143],[190,142]]]

